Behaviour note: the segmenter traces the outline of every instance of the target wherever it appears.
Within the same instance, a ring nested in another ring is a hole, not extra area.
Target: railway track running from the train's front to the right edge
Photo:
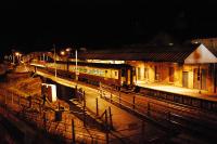
[[[118,100],[119,93],[117,91],[111,91],[111,89],[106,89],[107,91],[116,94],[117,96],[113,96],[113,99]],[[164,108],[166,112],[174,112],[175,114],[191,116],[197,119],[205,119],[207,121],[217,121],[217,114],[213,112],[208,112],[205,109],[201,109],[194,106],[189,106],[180,103],[175,103],[171,101],[159,100],[149,95],[141,95],[140,93],[122,93],[122,101],[128,103],[128,106],[132,107],[133,96],[135,96],[135,107],[140,110],[145,110],[148,105],[152,107],[158,107],[159,109]]]

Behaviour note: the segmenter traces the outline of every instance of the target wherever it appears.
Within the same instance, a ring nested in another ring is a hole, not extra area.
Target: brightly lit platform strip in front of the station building
[[[137,86],[139,86],[141,88],[151,89],[151,90],[169,92],[169,93],[174,93],[174,94],[181,94],[181,95],[186,95],[186,96],[217,102],[217,93],[210,93],[205,90],[188,89],[188,88],[181,88],[181,87],[175,87],[175,86],[168,86],[168,84],[159,84],[159,83],[138,82]]]

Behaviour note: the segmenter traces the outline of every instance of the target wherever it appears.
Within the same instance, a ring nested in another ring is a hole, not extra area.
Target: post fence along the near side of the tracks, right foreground
[[[161,95],[161,93],[155,92],[155,94],[156,93],[157,95]],[[171,128],[171,131],[179,131],[181,128],[182,130],[184,129],[188,131],[196,132],[208,141],[209,139],[212,141],[215,138],[213,134],[217,130],[217,127],[215,127],[215,121],[209,121],[208,119],[203,118],[195,118],[194,116],[190,116],[191,114],[184,116],[180,113],[186,112],[181,110],[176,114],[174,113],[175,110],[171,110],[173,107],[170,108],[153,102],[139,103],[137,102],[136,93],[130,94],[131,96],[128,95],[128,97],[123,96],[120,92],[114,91],[111,87],[103,84],[100,87],[100,94],[101,97],[107,102],[111,102],[116,106],[119,106],[120,108],[124,108],[137,116],[145,118],[146,120],[152,121],[154,125],[163,125],[163,128],[167,128],[168,130]]]

